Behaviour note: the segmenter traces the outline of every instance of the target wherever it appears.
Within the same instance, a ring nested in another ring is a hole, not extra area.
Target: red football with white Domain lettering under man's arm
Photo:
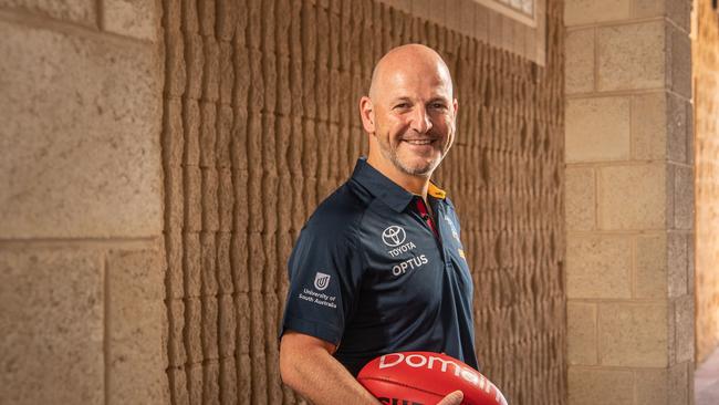
[[[475,368],[446,354],[402,352],[364,366],[357,381],[383,404],[434,405],[461,390],[463,405],[507,405],[504,395]]]

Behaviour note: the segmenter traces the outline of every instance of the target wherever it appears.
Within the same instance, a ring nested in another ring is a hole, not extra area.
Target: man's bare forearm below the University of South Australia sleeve
[[[282,380],[315,405],[379,404],[350,372],[322,347],[283,346]]]

